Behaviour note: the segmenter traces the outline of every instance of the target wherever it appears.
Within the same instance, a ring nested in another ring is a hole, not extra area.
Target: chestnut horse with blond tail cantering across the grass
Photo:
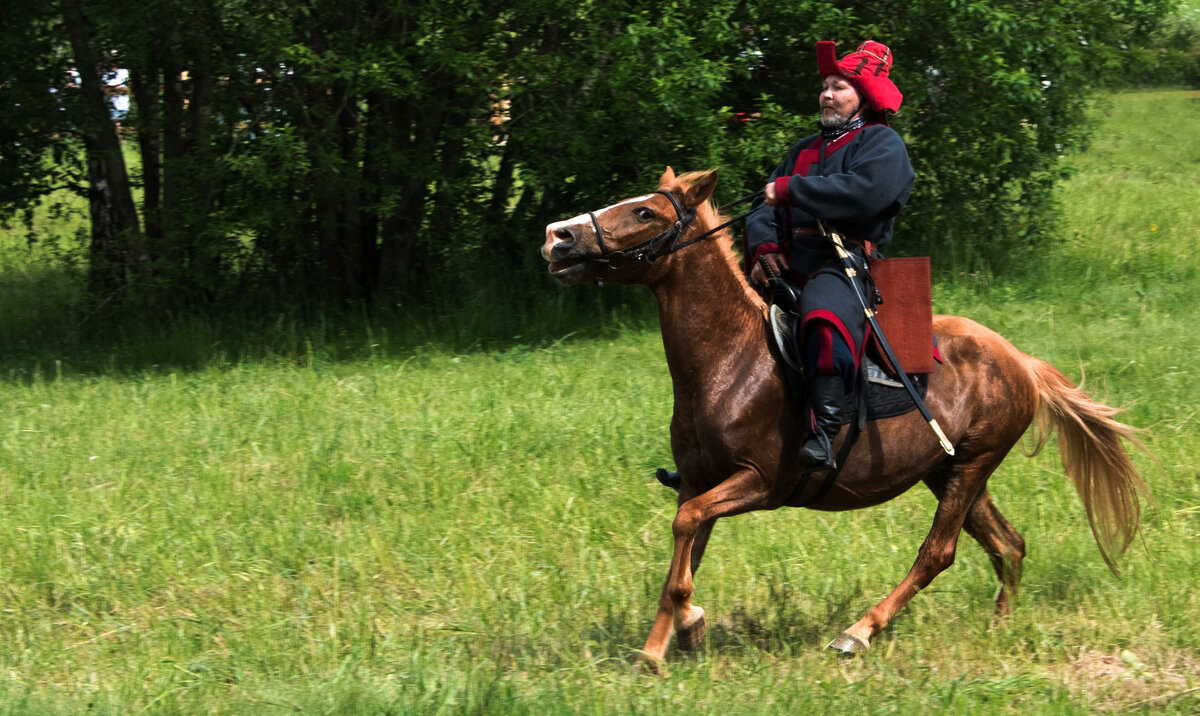
[[[644,646],[652,664],[664,658],[672,631],[685,650],[704,638],[704,610],[691,602],[692,576],[718,518],[785,505],[858,510],[919,481],[937,497],[937,511],[916,562],[830,646],[865,650],[917,591],[954,562],[964,528],[986,550],[1000,578],[996,608],[1007,613],[1025,542],[992,504],[988,477],[1034,421],[1037,449],[1057,428],[1066,473],[1104,560],[1116,571],[1115,555],[1138,530],[1145,489],[1122,444],[1136,444],[1138,431],[1114,420],[1116,409],[1088,398],[1050,365],[965,318],[935,317],[943,362],[930,375],[926,398],[954,455],[942,450],[916,411],[872,421],[833,488],[806,504],[821,480],[803,481],[794,465],[800,420],[769,339],[767,307],[739,270],[728,231],[704,237],[721,223],[709,201],[715,185],[715,172],[677,178],[668,167],[655,193],[550,224],[541,248],[551,275],[565,284],[640,283],[658,300],[674,390],[671,450],[683,483],[672,524],[674,554]]]

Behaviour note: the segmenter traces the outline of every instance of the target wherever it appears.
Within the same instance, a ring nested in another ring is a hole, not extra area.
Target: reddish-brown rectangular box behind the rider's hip
[[[880,329],[905,373],[934,372],[934,302],[929,257],[871,259],[871,277],[883,296],[875,307]],[[883,351],[871,348],[883,367],[895,373]]]

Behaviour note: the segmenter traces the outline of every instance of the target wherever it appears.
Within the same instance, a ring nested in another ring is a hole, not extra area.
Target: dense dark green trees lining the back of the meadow
[[[1085,142],[1091,91],[1200,82],[1200,22],[1177,10],[6,2],[0,216],[40,240],[35,206],[86,197],[83,272],[104,301],[520,299],[547,221],[644,191],[665,164],[721,167],[721,200],[760,188],[811,133],[814,42],[874,37],[895,53],[920,178],[896,248],[977,270],[1051,234],[1057,156]],[[119,68],[131,107],[114,119]]]

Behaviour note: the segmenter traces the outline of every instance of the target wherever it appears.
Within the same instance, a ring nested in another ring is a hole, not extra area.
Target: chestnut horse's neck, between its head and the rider
[[[734,272],[721,247],[700,243],[671,257],[670,269],[650,285],[667,366],[676,385],[712,385],[730,361],[752,360],[766,350],[763,305]]]

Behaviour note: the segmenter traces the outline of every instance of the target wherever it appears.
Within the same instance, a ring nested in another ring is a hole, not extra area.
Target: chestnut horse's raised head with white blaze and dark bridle
[[[691,229],[716,186],[716,172],[677,178],[671,167],[659,188],[546,227],[541,258],[562,283],[638,283],[654,260]]]

